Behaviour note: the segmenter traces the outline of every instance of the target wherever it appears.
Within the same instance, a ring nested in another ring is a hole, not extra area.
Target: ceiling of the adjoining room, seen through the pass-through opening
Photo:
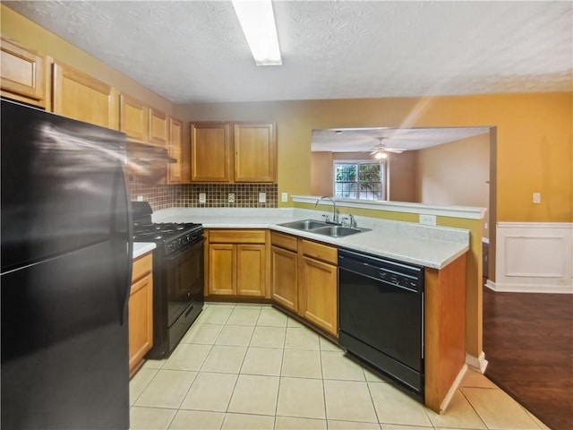
[[[372,127],[312,130],[312,151],[368,152],[380,142],[386,148],[423,150],[489,131],[489,127]],[[379,138],[382,138],[382,141],[379,141]]]

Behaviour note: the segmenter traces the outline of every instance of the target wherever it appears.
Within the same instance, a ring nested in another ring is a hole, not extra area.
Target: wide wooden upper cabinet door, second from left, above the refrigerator
[[[117,92],[64,64],[54,64],[54,112],[117,130]]]

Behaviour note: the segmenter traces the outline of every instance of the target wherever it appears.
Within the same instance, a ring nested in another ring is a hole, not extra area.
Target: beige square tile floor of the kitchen
[[[547,428],[471,371],[437,415],[270,305],[206,304],[133,376],[130,404],[132,430]]]

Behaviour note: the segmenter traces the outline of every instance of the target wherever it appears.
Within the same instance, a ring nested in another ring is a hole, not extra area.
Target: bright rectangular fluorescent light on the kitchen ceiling
[[[233,0],[236,16],[257,65],[283,64],[270,0]]]

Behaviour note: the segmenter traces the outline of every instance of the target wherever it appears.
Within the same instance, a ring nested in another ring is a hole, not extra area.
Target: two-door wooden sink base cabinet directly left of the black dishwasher
[[[338,250],[271,233],[272,300],[338,337]]]

